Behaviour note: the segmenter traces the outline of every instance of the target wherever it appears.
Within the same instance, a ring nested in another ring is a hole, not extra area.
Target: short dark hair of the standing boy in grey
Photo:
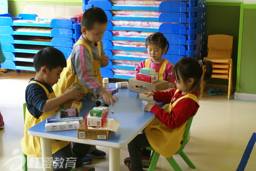
[[[104,24],[108,22],[105,12],[99,7],[92,7],[83,13],[81,27],[92,30],[94,23]]]

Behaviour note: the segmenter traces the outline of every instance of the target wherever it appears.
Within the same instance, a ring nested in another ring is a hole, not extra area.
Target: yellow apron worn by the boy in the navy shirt
[[[44,88],[48,99],[55,98],[54,92],[50,94],[49,91],[46,89],[46,87],[41,83],[37,81],[30,81],[29,84],[31,83],[36,83],[42,88]],[[22,145],[22,152],[24,154],[31,157],[42,157],[40,138],[28,135],[28,129],[36,125],[37,123],[40,123],[41,121],[49,118],[50,116],[56,114],[57,112],[59,112],[59,107],[49,112],[43,113],[38,119],[36,119],[33,115],[29,113],[28,109],[26,108],[25,131],[24,131],[25,135],[22,141],[20,142],[20,144]],[[67,141],[52,140],[52,154],[56,153],[57,151],[59,151],[59,149],[65,147],[69,143],[70,142],[67,142]]]

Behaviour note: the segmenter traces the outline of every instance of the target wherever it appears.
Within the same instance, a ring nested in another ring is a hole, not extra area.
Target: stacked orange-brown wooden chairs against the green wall
[[[233,62],[232,62],[232,46],[233,36],[224,34],[214,34],[208,36],[207,57],[204,60],[214,62],[211,78],[228,79],[228,97],[230,99],[231,91],[233,92]],[[203,75],[205,73],[205,66],[203,67]],[[201,95],[205,90],[205,81],[201,82]]]

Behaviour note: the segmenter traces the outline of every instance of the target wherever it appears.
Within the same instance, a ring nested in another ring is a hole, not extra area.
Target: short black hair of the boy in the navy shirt
[[[40,50],[34,56],[34,68],[36,72],[46,66],[50,71],[57,67],[67,67],[67,61],[63,53],[55,48],[47,47]]]

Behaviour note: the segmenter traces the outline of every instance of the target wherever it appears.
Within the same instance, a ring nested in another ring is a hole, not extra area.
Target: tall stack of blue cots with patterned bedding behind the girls
[[[161,32],[170,46],[164,55],[175,64],[181,57],[204,57],[206,2],[110,0],[84,1],[83,9],[102,8],[108,16],[108,28],[103,37],[105,53],[112,67],[101,69],[103,77],[129,79],[135,76],[133,62],[148,58],[146,37]],[[116,62],[125,60],[125,62]]]

